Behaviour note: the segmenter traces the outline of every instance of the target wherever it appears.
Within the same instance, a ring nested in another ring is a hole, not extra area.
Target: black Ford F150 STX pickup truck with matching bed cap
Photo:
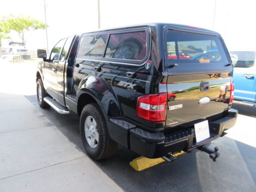
[[[237,119],[233,64],[220,34],[199,27],[151,23],[61,39],[38,49],[37,98],[42,108],[80,116],[90,157],[118,144],[171,161],[205,146]]]

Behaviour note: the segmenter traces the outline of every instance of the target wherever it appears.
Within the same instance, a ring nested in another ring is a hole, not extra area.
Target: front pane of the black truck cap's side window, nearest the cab
[[[87,57],[103,57],[108,35],[90,35],[81,38],[78,55]]]

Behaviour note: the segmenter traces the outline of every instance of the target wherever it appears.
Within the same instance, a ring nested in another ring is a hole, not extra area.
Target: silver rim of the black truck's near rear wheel
[[[92,116],[86,117],[84,123],[84,133],[87,140],[87,143],[90,147],[95,148],[99,142],[99,133],[98,127],[95,119]]]

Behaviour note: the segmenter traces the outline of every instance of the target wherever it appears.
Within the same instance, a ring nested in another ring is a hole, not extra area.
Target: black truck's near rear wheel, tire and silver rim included
[[[84,106],[80,117],[80,133],[87,154],[104,159],[117,151],[118,144],[109,138],[105,118],[97,103]]]

